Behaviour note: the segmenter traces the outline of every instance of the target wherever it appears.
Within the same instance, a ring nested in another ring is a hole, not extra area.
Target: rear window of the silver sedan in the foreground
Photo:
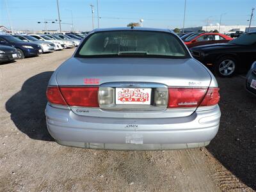
[[[102,31],[90,35],[79,57],[134,56],[188,57],[188,51],[172,33],[157,31]]]

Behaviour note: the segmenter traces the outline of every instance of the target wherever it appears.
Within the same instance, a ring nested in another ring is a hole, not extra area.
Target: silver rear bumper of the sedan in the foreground
[[[167,150],[208,145],[220,125],[220,108],[182,118],[98,118],[45,109],[47,128],[61,145],[116,150]],[[135,128],[127,125],[137,125]]]

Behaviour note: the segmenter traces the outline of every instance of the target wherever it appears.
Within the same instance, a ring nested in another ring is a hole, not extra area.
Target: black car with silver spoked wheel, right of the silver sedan
[[[256,32],[246,33],[227,44],[192,47],[192,55],[221,77],[247,72],[256,61]]]

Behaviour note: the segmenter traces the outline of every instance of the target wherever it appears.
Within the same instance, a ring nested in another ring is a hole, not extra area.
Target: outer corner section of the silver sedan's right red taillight
[[[209,88],[200,106],[214,106],[220,101],[220,88]]]

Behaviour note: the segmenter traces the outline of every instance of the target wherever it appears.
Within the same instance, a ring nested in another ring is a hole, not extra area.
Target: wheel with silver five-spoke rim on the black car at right
[[[236,74],[237,60],[232,56],[224,56],[216,62],[214,72],[220,77],[232,77]]]

